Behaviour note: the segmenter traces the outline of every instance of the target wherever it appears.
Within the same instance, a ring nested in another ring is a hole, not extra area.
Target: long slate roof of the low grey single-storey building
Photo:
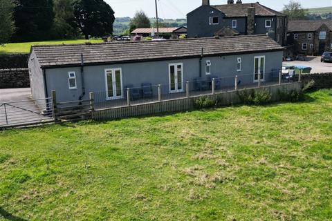
[[[185,59],[201,56],[239,55],[251,52],[284,50],[266,35],[237,37],[173,39],[102,44],[32,46],[42,68],[84,65],[123,64],[143,61]]]

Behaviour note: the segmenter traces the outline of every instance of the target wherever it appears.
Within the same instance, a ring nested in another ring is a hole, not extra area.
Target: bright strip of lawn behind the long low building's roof
[[[90,39],[90,40],[57,40],[57,41],[35,41],[35,42],[24,42],[24,43],[11,43],[6,44],[4,47],[0,46],[1,53],[29,53],[30,48],[33,45],[45,45],[45,44],[82,44],[86,41],[91,43],[103,42],[101,39]]]

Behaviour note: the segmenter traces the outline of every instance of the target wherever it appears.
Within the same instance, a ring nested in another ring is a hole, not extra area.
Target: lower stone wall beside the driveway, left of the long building
[[[28,68],[0,69],[0,89],[30,88]]]

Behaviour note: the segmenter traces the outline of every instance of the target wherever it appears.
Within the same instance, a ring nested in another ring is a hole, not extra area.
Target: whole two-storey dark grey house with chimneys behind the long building
[[[288,17],[280,12],[256,3],[228,0],[227,4],[210,5],[202,0],[202,6],[187,14],[188,37],[213,37],[215,35],[269,35],[286,46]],[[230,31],[229,29],[232,29]],[[226,31],[225,31],[226,30]]]

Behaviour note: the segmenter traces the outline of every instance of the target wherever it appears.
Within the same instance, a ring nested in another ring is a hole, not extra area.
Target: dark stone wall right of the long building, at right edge
[[[315,81],[313,89],[332,88],[332,72],[331,73],[313,73],[302,75],[302,87],[311,80]]]

